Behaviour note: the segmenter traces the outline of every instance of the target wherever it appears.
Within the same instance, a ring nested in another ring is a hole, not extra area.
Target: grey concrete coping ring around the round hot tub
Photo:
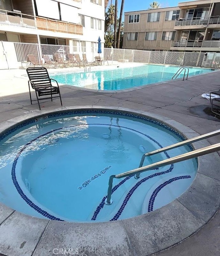
[[[198,135],[189,127],[164,116],[106,106],[61,107],[29,113],[1,123],[0,133],[36,117],[76,109],[106,109],[139,114],[167,124],[187,138]],[[206,140],[193,144],[195,149],[208,145],[210,144]],[[0,253],[40,256],[56,255],[59,249],[72,249],[71,252],[78,249],[79,255],[144,256],[159,252],[198,231],[217,211],[220,205],[220,198],[216,196],[220,193],[218,161],[218,153],[199,157],[197,175],[185,193],[156,211],[122,221],[48,221],[14,212],[1,204]],[[77,207],[80,205],[76,209]]]

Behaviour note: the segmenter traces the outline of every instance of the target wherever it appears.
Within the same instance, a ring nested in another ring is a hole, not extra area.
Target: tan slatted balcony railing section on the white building
[[[43,17],[36,17],[36,27],[41,30],[61,32],[68,34],[83,34],[83,26],[59,20],[51,20]]]

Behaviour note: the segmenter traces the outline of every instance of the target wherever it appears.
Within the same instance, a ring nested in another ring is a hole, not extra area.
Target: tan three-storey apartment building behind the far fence
[[[122,48],[220,52],[220,1],[180,2],[178,7],[125,12]]]

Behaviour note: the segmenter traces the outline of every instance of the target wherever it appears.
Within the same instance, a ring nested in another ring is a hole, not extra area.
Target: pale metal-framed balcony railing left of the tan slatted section
[[[36,29],[34,16],[0,10],[0,24]]]

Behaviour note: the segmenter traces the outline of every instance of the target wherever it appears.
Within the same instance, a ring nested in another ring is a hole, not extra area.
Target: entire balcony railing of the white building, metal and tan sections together
[[[77,0],[78,1],[78,0]],[[83,34],[83,26],[65,21],[34,17],[28,14],[0,10],[0,25],[48,30],[69,34]]]

